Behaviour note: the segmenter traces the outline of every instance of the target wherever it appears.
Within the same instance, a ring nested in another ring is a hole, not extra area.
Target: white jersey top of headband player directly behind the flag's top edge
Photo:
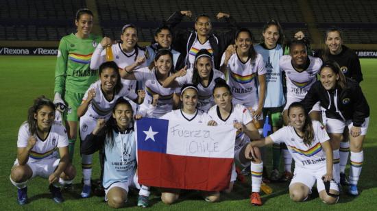
[[[182,111],[182,109],[172,110],[171,112],[161,116],[160,119],[185,121],[189,123],[202,123],[206,125],[211,120],[210,116],[201,110],[196,110],[194,114],[186,114]]]

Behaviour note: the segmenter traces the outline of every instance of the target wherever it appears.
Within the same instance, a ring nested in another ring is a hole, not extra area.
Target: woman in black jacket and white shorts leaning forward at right
[[[320,81],[313,84],[304,101],[311,109],[319,101],[326,109],[326,127],[334,154],[335,180],[339,183],[339,145],[343,131],[350,131],[351,168],[348,193],[358,195],[357,183],[363,165],[363,141],[369,125],[369,105],[358,82],[343,75],[336,62],[321,66]],[[336,162],[338,160],[338,162]]]

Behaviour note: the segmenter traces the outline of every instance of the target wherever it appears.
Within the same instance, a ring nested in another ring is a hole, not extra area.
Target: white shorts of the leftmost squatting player
[[[51,173],[55,171],[56,168],[58,168],[60,162],[60,158],[53,157],[53,158],[47,158],[47,159],[41,159],[35,162],[29,162],[27,161],[27,165],[32,169],[33,175],[32,178],[38,176],[43,178],[48,178]],[[14,166],[19,165],[19,160],[14,161]]]

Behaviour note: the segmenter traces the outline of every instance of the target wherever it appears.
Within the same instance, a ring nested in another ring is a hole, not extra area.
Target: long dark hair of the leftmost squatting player
[[[36,134],[38,129],[34,114],[38,114],[38,110],[40,110],[43,106],[49,106],[55,112],[55,105],[44,95],[41,95],[40,97],[34,99],[33,105],[29,108],[29,110],[27,110],[27,125],[29,125],[29,132],[32,135]]]

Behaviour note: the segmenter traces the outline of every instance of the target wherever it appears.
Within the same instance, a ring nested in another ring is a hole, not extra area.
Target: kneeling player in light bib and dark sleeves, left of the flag
[[[132,105],[123,97],[117,99],[110,119],[97,119],[93,132],[82,140],[81,153],[91,155],[103,151],[104,179],[108,205],[122,208],[129,188],[140,189],[138,206],[147,207],[149,188],[137,182],[136,140],[132,121]]]

